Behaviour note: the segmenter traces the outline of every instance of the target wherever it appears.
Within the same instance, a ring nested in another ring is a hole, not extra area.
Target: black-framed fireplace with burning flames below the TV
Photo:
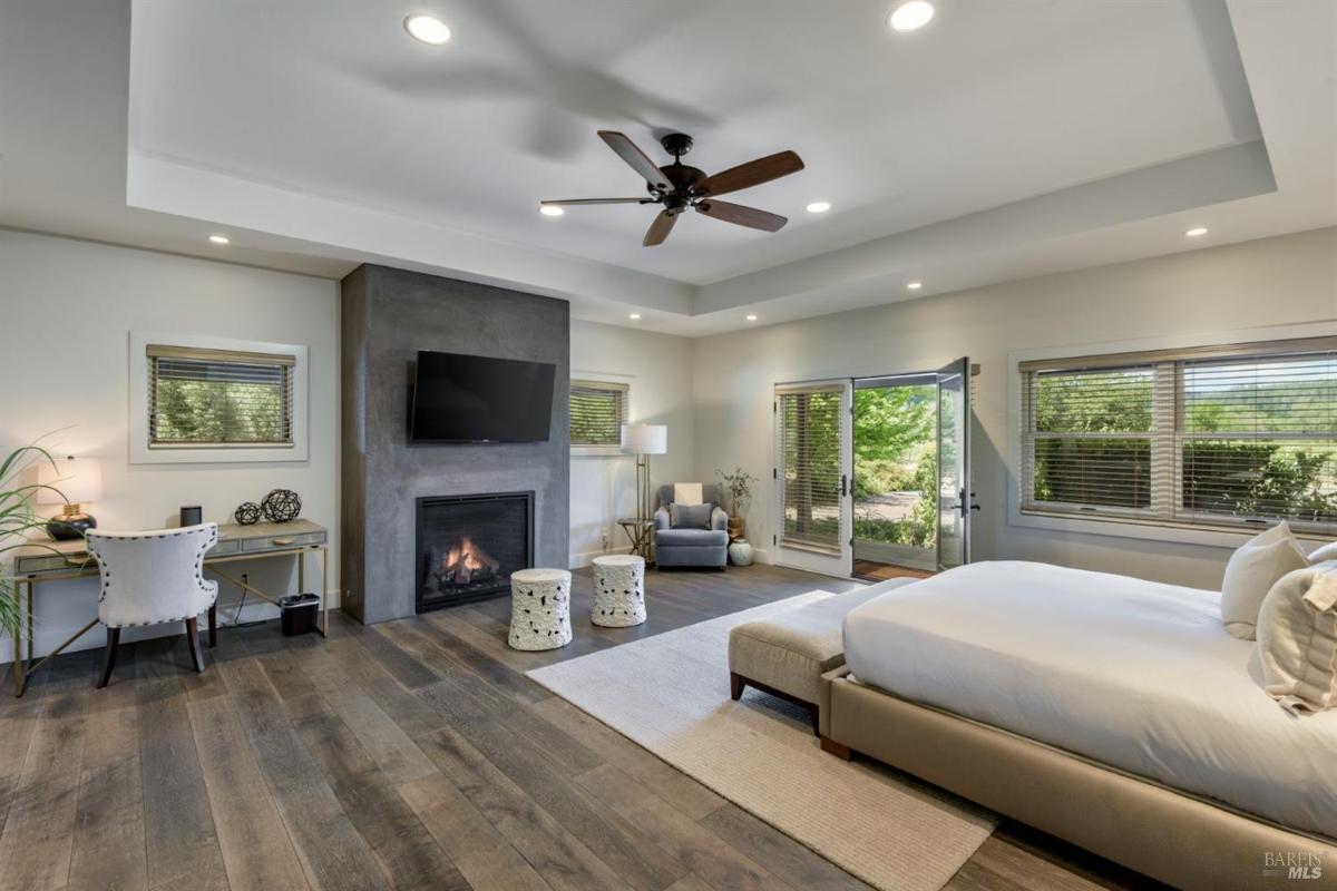
[[[511,590],[533,566],[533,493],[417,500],[417,612]]]

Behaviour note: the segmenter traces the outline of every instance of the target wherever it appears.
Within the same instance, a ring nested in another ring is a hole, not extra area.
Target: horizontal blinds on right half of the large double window
[[[1181,517],[1337,530],[1337,350],[1185,362],[1181,389]]]

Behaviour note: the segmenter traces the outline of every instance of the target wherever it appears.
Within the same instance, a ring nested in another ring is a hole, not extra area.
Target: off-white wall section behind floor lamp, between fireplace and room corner
[[[693,448],[693,342],[635,329],[571,322],[571,377],[626,381],[631,385],[632,422],[668,425],[668,453],[650,460],[655,485],[702,480]],[[706,477],[701,474],[706,473]],[[636,464],[630,456],[571,457],[571,565],[583,566],[603,552],[627,550],[618,517],[636,513]]]

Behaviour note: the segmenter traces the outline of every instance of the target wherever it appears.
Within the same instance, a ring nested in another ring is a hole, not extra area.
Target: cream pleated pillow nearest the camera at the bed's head
[[[1288,573],[1258,614],[1267,695],[1290,712],[1337,707],[1337,560]]]

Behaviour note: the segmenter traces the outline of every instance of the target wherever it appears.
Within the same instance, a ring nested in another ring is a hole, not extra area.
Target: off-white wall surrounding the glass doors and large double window
[[[1334,318],[1337,228],[1328,228],[702,338],[691,363],[697,466],[743,464],[767,481],[749,538],[769,545],[777,382],[932,370],[969,355],[983,366],[972,443],[983,506],[976,560],[1039,560],[1217,588],[1227,557],[1221,548],[1008,525],[1008,353]]]

